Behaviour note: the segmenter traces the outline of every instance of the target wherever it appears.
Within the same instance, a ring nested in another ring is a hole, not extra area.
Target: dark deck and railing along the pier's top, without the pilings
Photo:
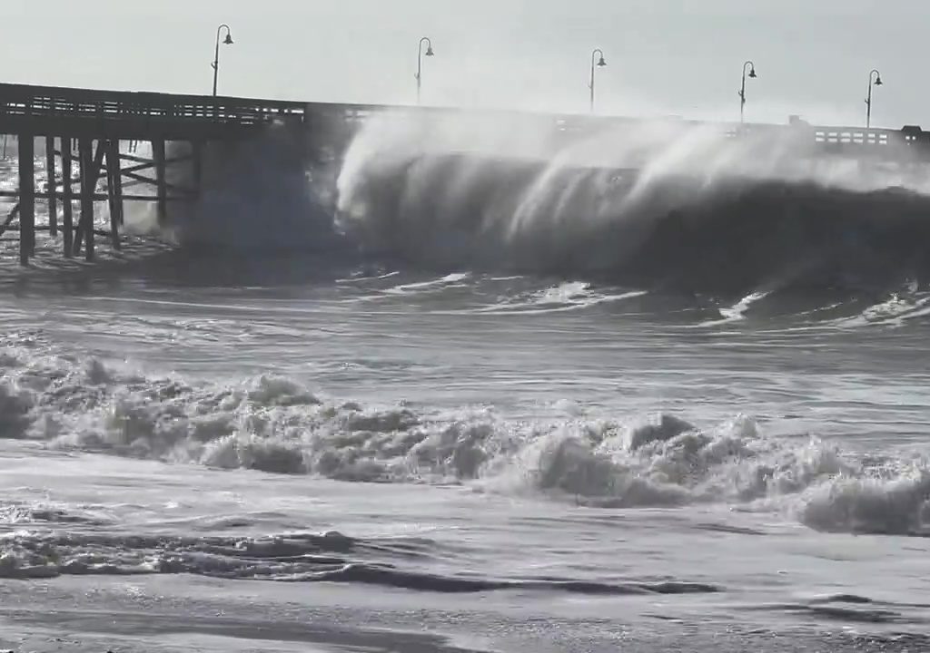
[[[306,124],[311,131],[320,123],[328,123],[329,126],[338,125],[351,131],[373,115],[394,110],[431,114],[461,111],[0,84],[0,134],[210,140],[242,137],[255,128],[275,122]],[[522,122],[535,121],[551,129],[553,134],[564,136],[644,122],[636,118],[578,114],[475,112],[516,117]],[[810,125],[800,121],[791,125],[704,125],[722,130],[727,137],[788,133],[799,142],[807,142],[813,148],[828,153],[905,159],[916,155],[919,159],[930,159],[930,132],[915,126],[899,130],[862,129]]]

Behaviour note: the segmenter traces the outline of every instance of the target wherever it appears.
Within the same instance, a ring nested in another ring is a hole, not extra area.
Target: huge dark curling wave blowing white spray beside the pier
[[[357,138],[339,227],[366,251],[717,294],[883,291],[930,272],[930,197],[894,170],[684,127],[529,153],[441,127]]]

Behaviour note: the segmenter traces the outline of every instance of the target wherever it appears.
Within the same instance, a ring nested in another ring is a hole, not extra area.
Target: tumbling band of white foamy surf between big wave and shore
[[[876,465],[816,438],[768,437],[749,418],[711,427],[666,414],[522,423],[494,411],[367,408],[281,377],[189,384],[28,346],[7,348],[0,366],[0,432],[63,451],[452,482],[615,509],[723,503],[797,515],[815,529],[928,527],[925,459]]]

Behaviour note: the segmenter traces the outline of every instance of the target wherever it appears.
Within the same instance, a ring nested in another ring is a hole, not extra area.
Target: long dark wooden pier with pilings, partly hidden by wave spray
[[[15,201],[5,204],[11,206],[7,215],[0,215],[0,237],[7,232],[19,233],[22,265],[28,265],[34,255],[36,232],[44,230],[51,237],[61,235],[63,255],[71,257],[83,251],[89,261],[94,257],[97,237],[107,239],[113,249],[120,248],[125,202],[152,202],[161,224],[166,221],[169,202],[195,202],[202,191],[204,152],[210,144],[241,141],[271,124],[286,124],[301,130],[309,150],[330,150],[339,156],[359,124],[390,109],[0,84],[0,137],[5,149],[7,136],[15,137],[19,162],[18,188],[0,189],[0,198]],[[578,115],[526,114],[524,118],[541,121],[553,134],[565,137],[631,122]],[[793,129],[827,155],[930,161],[930,132],[919,127],[883,130],[795,124],[722,128],[729,137]],[[35,184],[37,140],[45,150],[44,189]],[[137,145],[141,142],[149,144],[151,156],[140,156]],[[190,183],[169,181],[168,170],[179,165],[187,166],[185,178]],[[41,227],[35,221],[36,200],[45,201],[48,211],[47,225]],[[95,202],[101,201],[108,205],[109,229],[94,228]]]

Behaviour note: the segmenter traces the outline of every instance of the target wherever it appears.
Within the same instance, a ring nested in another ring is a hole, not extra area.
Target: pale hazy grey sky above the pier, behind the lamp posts
[[[419,37],[429,104],[930,128],[930,0],[0,0],[8,82],[411,103]]]

